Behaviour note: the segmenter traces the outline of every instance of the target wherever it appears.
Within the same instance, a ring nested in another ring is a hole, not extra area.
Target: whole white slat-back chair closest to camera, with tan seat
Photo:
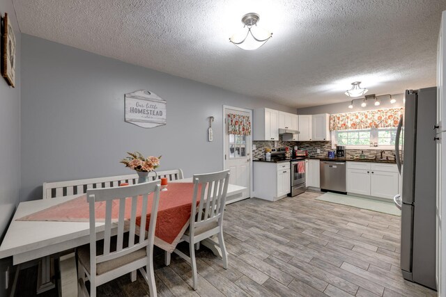
[[[153,193],[151,219],[146,232],[148,195]],[[85,286],[85,276],[90,280],[90,296],[96,296],[96,287],[114,280],[125,273],[131,273],[136,280],[136,270],[144,276],[150,296],[157,296],[153,273],[153,239],[160,202],[160,181],[147,182],[134,186],[98,188],[87,190],[90,204],[90,245],[77,249],[79,292],[89,296]],[[137,210],[138,196],[142,195],[142,207]],[[125,200],[131,199],[129,232],[125,232]],[[95,203],[105,202],[104,240],[96,241]],[[117,235],[112,236],[116,227],[112,220],[112,204],[119,204]],[[141,218],[137,226],[137,217]],[[146,271],[144,271],[146,266]]]

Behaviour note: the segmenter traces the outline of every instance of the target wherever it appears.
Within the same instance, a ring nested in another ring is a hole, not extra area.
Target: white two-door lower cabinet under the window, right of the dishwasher
[[[397,165],[347,162],[347,192],[393,199],[399,193]]]

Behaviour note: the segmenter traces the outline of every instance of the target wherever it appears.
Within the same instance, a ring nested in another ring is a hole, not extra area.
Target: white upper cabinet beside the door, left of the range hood
[[[279,111],[256,109],[254,111],[254,141],[279,140]]]

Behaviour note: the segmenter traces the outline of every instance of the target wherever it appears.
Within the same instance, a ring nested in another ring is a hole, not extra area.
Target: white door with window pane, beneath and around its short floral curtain
[[[229,113],[236,113],[240,115],[252,114],[243,109],[224,109],[224,118],[227,118]],[[224,168],[231,170],[230,184],[238,186],[245,186],[247,189],[243,193],[243,199],[249,198],[249,189],[251,188],[251,145],[252,136],[234,135],[228,133],[228,123],[224,122]]]

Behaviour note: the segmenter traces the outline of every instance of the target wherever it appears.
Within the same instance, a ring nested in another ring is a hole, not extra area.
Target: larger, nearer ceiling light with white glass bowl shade
[[[247,51],[252,51],[258,49],[264,45],[270,38],[272,38],[272,33],[261,29],[257,26],[259,22],[259,15],[256,13],[247,13],[242,17],[243,30],[229,38],[229,41],[234,45],[240,47],[240,49],[245,49]],[[246,28],[247,27],[247,31]]]

